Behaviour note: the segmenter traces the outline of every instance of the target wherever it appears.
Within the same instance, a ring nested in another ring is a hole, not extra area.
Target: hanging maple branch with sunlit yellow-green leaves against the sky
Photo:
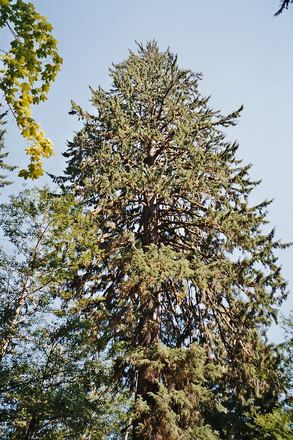
[[[19,176],[37,179],[43,175],[40,158],[48,158],[54,152],[53,143],[31,116],[30,106],[47,99],[62,59],[58,56],[57,41],[51,35],[51,24],[36,12],[32,3],[0,0],[0,29],[5,26],[13,40],[10,49],[1,49],[0,90],[29,143],[26,151],[30,163]]]

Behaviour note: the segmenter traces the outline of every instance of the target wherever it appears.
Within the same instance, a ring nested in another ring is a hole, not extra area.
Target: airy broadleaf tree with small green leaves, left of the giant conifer
[[[1,438],[109,438],[120,430],[123,395],[111,395],[95,319],[64,294],[80,261],[99,258],[91,215],[47,189],[0,207]]]

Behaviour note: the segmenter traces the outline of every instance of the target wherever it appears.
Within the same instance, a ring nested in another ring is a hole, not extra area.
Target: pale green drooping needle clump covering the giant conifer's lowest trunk
[[[137,395],[134,403],[134,417],[140,420],[141,436],[218,439],[218,433],[204,423],[203,409],[209,412],[224,410],[213,390],[207,388],[210,381],[219,379],[221,369],[206,365],[203,348],[198,344],[192,344],[189,349],[167,348],[160,344],[148,351],[148,357],[145,355],[142,350],[133,356],[133,363],[137,372],[147,366],[156,392],[149,392],[149,401]]]

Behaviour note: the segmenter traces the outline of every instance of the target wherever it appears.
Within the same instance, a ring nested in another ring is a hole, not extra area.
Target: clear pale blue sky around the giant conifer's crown
[[[250,202],[274,198],[268,220],[276,226],[278,239],[293,242],[293,4],[274,17],[279,0],[32,2],[53,25],[63,58],[48,100],[33,108],[36,121],[55,144],[56,158],[44,160],[48,172],[62,173],[66,139],[81,126],[68,114],[71,99],[90,110],[88,85],[108,89],[111,63],[127,58],[129,49],[135,51],[134,40],[155,39],[161,50],[170,46],[178,54],[182,68],[203,72],[199,91],[211,95],[211,107],[230,113],[244,105],[239,125],[227,136],[239,141],[238,158],[253,164],[250,176],[262,179]],[[12,122],[8,130],[7,162],[23,168],[25,142]],[[2,200],[22,188],[17,172],[14,180],[1,191]],[[43,176],[36,183],[48,181]],[[293,248],[279,253],[279,261],[292,290],[282,306],[287,315],[293,309]],[[272,326],[269,337],[279,342],[282,332]]]

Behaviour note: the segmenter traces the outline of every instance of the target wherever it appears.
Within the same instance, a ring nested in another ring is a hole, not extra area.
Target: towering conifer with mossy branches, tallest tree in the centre
[[[247,413],[272,411],[282,391],[265,330],[286,282],[274,255],[284,245],[262,231],[269,202],[249,206],[259,182],[222,131],[242,107],[212,110],[201,75],[155,42],[110,76],[110,92],[92,90],[93,115],[73,103],[85,123],[57,180],[100,229],[101,260],[71,289],[92,298],[97,349],[112,353],[117,389],[134,393],[126,438],[250,439]]]

